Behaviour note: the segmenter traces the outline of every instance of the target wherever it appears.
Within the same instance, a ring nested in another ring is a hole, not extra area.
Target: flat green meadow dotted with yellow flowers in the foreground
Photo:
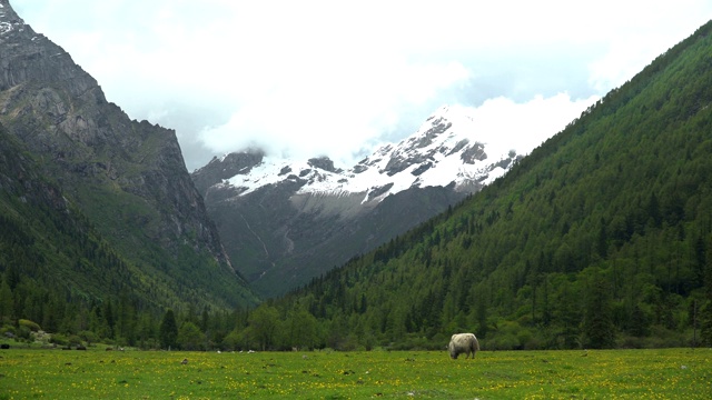
[[[0,357],[0,399],[706,399],[712,390],[710,349],[483,351],[475,360],[445,351]]]

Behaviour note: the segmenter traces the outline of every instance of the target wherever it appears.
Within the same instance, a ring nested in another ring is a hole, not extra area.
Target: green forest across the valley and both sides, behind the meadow
[[[77,210],[2,183],[2,330],[182,349],[442,349],[458,331],[485,350],[712,346],[710,33],[712,23],[660,56],[482,192],[249,310],[157,300],[160,282],[127,282],[135,267]],[[2,154],[7,166],[31,159]]]

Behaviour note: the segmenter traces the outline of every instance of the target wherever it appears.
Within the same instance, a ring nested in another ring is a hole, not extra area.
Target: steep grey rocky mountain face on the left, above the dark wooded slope
[[[139,268],[160,271],[176,292],[210,292],[210,279],[189,277],[211,276],[225,288],[216,303],[255,298],[222,249],[175,132],[130,120],[8,0],[0,0],[0,122]]]

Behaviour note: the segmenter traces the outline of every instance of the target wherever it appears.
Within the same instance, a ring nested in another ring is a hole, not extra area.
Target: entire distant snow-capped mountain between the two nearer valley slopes
[[[477,141],[463,108],[443,107],[399,143],[349,169],[260,151],[212,159],[191,177],[253,287],[278,296],[445,211],[521,156]]]

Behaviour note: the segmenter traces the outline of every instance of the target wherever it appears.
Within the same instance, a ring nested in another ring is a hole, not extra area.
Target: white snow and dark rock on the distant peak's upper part
[[[363,193],[362,203],[366,203],[413,187],[454,184],[457,191],[475,191],[502,177],[516,157],[513,149],[496,140],[478,139],[466,108],[445,106],[414,134],[382,146],[348,170],[334,168],[327,158],[294,161],[265,156],[222,184],[244,196],[268,184],[291,181],[300,184],[297,193]]]

